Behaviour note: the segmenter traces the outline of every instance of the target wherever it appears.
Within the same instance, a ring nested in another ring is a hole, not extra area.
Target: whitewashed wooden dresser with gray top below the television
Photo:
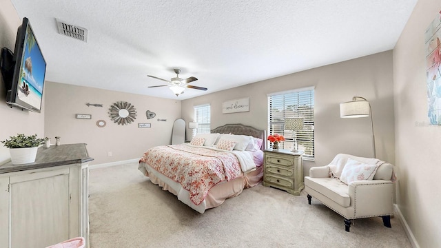
[[[0,247],[89,241],[85,144],[39,147],[35,163],[0,166]]]

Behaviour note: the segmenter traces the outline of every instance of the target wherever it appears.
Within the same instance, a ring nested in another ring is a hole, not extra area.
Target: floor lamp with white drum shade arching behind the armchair
[[[373,136],[372,110],[369,101],[367,101],[365,98],[361,96],[353,96],[352,101],[346,103],[340,103],[341,118],[360,118],[360,117],[368,117],[368,116],[371,117],[372,149],[373,149],[373,157],[376,158],[375,136]]]

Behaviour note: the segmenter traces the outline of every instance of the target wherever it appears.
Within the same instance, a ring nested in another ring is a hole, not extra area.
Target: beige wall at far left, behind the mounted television
[[[9,48],[14,51],[17,28],[21,24],[17,11],[9,0],[0,0],[0,48]],[[0,77],[0,141],[9,136],[23,133],[26,135],[38,134],[44,136],[44,107],[41,114],[21,111],[17,107],[6,105],[5,84]],[[9,150],[0,144],[0,165],[10,161]]]

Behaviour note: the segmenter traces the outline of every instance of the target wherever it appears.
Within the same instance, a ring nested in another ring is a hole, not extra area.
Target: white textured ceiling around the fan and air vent
[[[393,49],[417,0],[12,0],[48,63],[46,80],[189,99]],[[84,43],[56,19],[88,29]],[[170,79],[196,76],[175,96]]]

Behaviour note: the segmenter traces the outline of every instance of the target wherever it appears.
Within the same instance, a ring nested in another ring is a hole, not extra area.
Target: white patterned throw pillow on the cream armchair
[[[377,165],[368,165],[348,158],[340,180],[348,185],[356,180],[372,180],[377,168]]]

